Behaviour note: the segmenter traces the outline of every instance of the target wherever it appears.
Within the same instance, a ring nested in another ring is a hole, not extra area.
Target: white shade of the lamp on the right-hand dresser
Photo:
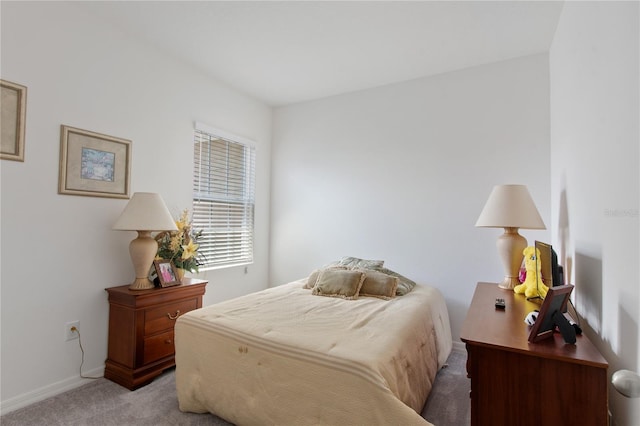
[[[476,226],[546,229],[529,190],[524,185],[496,185]]]

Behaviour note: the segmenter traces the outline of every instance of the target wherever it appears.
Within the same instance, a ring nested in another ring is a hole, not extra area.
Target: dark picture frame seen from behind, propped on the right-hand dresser
[[[560,329],[565,342],[575,343],[575,329],[569,324],[562,312],[566,311],[573,285],[549,287],[549,291],[542,302],[538,319],[531,327],[529,342],[536,343],[553,336],[556,326]]]

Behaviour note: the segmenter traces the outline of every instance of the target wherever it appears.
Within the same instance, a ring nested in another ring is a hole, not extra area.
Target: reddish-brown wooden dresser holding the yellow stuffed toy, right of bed
[[[503,298],[506,308],[495,308]],[[607,361],[584,335],[529,343],[525,316],[540,305],[478,283],[461,339],[467,347],[472,425],[608,424]]]

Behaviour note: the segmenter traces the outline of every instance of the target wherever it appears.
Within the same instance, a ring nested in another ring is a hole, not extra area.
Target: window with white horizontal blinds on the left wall
[[[255,146],[196,123],[193,228],[202,269],[253,262]]]

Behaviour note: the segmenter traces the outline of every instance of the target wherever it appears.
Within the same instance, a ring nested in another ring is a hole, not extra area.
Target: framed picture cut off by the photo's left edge
[[[27,88],[0,80],[0,158],[24,161],[24,129],[27,119]]]

